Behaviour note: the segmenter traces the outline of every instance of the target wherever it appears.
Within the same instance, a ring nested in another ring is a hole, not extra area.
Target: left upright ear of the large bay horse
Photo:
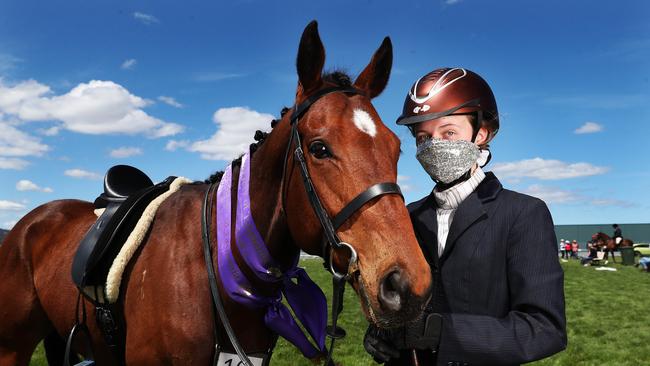
[[[298,48],[298,57],[296,58],[296,68],[298,70],[299,94],[302,87],[302,94],[307,95],[309,92],[320,87],[321,73],[325,65],[325,48],[318,35],[318,23],[312,20],[300,38]]]

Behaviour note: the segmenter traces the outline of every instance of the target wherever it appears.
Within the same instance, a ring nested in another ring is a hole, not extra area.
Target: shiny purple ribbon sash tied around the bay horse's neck
[[[248,308],[266,308],[264,323],[277,334],[294,344],[305,357],[314,358],[325,352],[327,300],[323,291],[304,269],[297,267],[299,256],[284,273],[262,239],[250,210],[249,154],[243,156],[237,188],[235,215],[235,245],[255,277],[269,284],[281,284],[275,296],[256,294],[252,284],[241,271],[231,250],[232,170],[226,168],[217,190],[217,268],[221,283],[228,295]],[[295,279],[295,283],[294,280]],[[311,335],[314,347],[302,332],[289,309],[282,303],[282,294]]]

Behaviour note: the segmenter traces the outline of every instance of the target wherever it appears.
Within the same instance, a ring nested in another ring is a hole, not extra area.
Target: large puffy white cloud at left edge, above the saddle
[[[0,80],[0,113],[15,115],[23,121],[57,120],[62,122],[60,128],[92,135],[143,134],[157,138],[183,131],[179,124],[145,113],[142,108],[151,101],[112,81],[92,80],[66,94],[50,95],[48,86],[34,80],[13,87]]]

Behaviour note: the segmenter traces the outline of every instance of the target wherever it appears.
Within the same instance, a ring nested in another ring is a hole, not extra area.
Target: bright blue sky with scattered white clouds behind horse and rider
[[[115,164],[204,179],[295,92],[312,19],[326,67],[356,75],[384,36],[374,104],[402,139],[407,201],[433,184],[394,125],[422,74],[493,87],[493,170],[557,224],[650,222],[647,1],[33,1],[0,3],[0,227],[54,199],[92,200]]]

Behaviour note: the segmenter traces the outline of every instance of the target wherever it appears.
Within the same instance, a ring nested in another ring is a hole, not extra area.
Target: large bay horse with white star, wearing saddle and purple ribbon
[[[298,49],[295,105],[335,86],[361,92],[322,96],[297,125],[313,186],[333,217],[367,187],[396,181],[400,142],[371,104],[389,79],[390,39],[384,39],[354,82],[340,73],[323,74],[324,62],[325,49],[312,22]],[[250,210],[281,270],[292,265],[300,250],[323,256],[324,230],[295,169],[294,155],[286,154],[292,113],[285,113],[250,155]],[[231,165],[233,177],[239,166],[237,161]],[[202,252],[202,203],[208,189],[205,183],[188,184],[165,200],[126,269],[118,302],[126,328],[127,364],[210,364],[216,339],[228,339],[223,327],[215,326]],[[5,238],[0,246],[0,366],[27,365],[44,338],[54,345],[46,342],[50,362],[58,363],[50,358],[57,351],[63,357],[61,337],[75,322],[78,294],[70,275],[73,255],[96,219],[90,202],[52,201],[25,215]],[[216,230],[216,222],[211,226]],[[367,202],[336,233],[356,251],[355,273],[348,282],[366,318],[384,328],[415,318],[430,296],[431,274],[403,199],[384,195]],[[210,246],[216,252],[215,242]],[[234,249],[233,255],[241,261]],[[334,269],[345,273],[349,256],[334,250]],[[278,336],[265,327],[264,311],[235,303],[222,281],[218,291],[246,353],[272,349]],[[92,309],[90,302],[82,302]],[[88,328],[97,364],[116,364],[92,311]],[[82,345],[76,347],[84,353]]]

